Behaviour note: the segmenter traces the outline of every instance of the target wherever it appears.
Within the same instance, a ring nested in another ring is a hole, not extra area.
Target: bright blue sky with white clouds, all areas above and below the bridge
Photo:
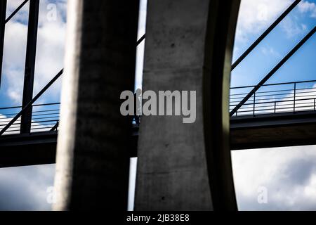
[[[41,0],[35,90],[37,93],[63,64],[67,0]],[[9,15],[22,0],[8,0]],[[242,0],[234,60],[293,0]],[[57,6],[56,20],[47,15]],[[299,4],[232,73],[232,86],[254,85],[316,25],[316,0]],[[145,33],[146,0],[140,7]],[[21,104],[28,4],[7,25],[0,106]],[[273,82],[315,79],[316,37],[312,37],[272,78]],[[141,86],[144,44],[138,46],[136,87]],[[60,82],[39,101],[58,102]],[[0,112],[1,113],[1,112]],[[316,210],[316,146],[242,150],[232,153],[239,210]],[[131,167],[135,171],[136,160]],[[50,210],[54,165],[0,169],[0,210]],[[135,177],[135,174],[131,174]],[[133,189],[133,180],[131,189]],[[258,197],[266,191],[266,201]],[[132,208],[133,195],[130,195]]]

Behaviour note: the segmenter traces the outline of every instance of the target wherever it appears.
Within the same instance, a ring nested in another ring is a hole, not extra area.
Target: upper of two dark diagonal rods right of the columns
[[[287,8],[286,11],[284,11],[284,13],[282,13],[279,18],[277,18],[277,20],[275,20],[274,23],[272,23],[272,25],[270,25],[270,27],[268,27],[267,30],[265,30],[265,32],[263,32],[263,34],[261,34],[261,36],[256,39],[256,41],[254,41],[254,44],[251,44],[251,46],[249,47],[249,49],[247,49],[242,56],[240,56],[235,63],[232,64],[232,70],[234,70],[237,65],[239,65],[239,63],[242,62],[242,60],[244,60],[244,58],[246,58],[246,56],[249,55],[249,53],[251,53],[252,50],[254,50],[254,48],[256,48],[256,46],[263,40],[265,39],[265,37],[268,36],[268,34],[270,34],[270,32],[275,29],[275,27],[300,3],[301,0],[296,0],[294,1],[293,4],[291,4],[291,6],[289,6],[289,8]]]

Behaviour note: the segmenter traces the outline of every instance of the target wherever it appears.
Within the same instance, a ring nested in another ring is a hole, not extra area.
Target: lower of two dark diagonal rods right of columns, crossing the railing
[[[268,75],[266,75],[261,82],[259,82],[254,89],[252,89],[252,91],[249,92],[249,94],[246,95],[246,97],[244,97],[244,99],[230,112],[230,116],[234,115],[235,113],[237,113],[237,110],[239,110],[239,108],[242,107],[242,105],[244,105],[244,103],[246,103],[246,101],[249,100],[249,98],[251,98],[251,96],[253,96],[256,91],[258,91],[258,89],[261,88],[261,86],[263,86],[263,84],[265,84],[265,82],[268,81],[268,79],[270,79],[270,77],[272,77],[272,75],[275,74],[275,72],[277,72],[277,70],[279,70],[279,68],[282,67],[282,65],[284,65],[284,63],[287,62],[287,60],[289,60],[289,58],[291,58],[291,56],[294,55],[294,53],[296,53],[296,51],[298,51],[298,49],[301,48],[301,46],[303,46],[303,44],[305,44],[305,42],[310,39],[310,37],[312,37],[312,34],[314,34],[316,31],[316,27],[314,27],[295,47],[294,49],[292,49],[287,56],[285,56],[276,66],[275,68],[273,68]]]

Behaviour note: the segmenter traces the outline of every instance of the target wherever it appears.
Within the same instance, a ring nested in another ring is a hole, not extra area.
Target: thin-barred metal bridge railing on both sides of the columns
[[[230,89],[230,110],[244,99],[254,86],[239,86]],[[58,131],[60,103],[32,105],[31,133]],[[4,135],[20,134],[20,112],[22,106],[0,108],[0,131]],[[316,80],[265,84],[256,91],[234,117],[271,115],[277,113],[296,113],[316,111]],[[135,121],[134,121],[135,122]],[[8,126],[8,124],[10,124]]]

